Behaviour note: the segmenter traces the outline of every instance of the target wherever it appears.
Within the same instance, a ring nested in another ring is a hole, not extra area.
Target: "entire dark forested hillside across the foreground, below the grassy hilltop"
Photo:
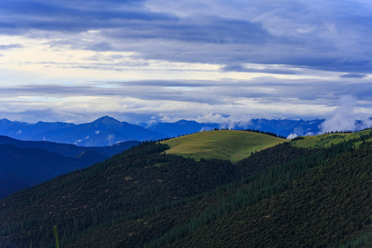
[[[234,164],[145,142],[0,200],[0,247],[366,247],[371,136]]]

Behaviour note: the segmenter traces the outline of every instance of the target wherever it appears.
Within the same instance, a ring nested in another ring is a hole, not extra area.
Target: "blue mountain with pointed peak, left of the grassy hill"
[[[115,145],[123,141],[145,141],[166,135],[125,121],[103,116],[92,123],[21,123],[0,120],[0,135],[23,141],[52,141],[79,146]]]

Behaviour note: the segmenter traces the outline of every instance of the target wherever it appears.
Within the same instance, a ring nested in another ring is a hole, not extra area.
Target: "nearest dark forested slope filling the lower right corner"
[[[345,154],[293,180],[282,194],[217,218],[169,247],[342,245],[371,231],[371,161],[371,147]]]

